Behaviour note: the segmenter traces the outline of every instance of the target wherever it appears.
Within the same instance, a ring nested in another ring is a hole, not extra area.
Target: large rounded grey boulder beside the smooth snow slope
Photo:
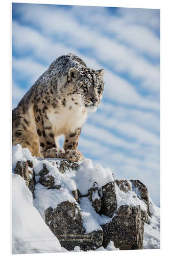
[[[85,233],[85,229],[78,204],[65,201],[58,204],[55,209],[47,208],[45,222],[59,239],[61,246],[67,250],[74,250],[75,246],[79,246],[80,237]]]

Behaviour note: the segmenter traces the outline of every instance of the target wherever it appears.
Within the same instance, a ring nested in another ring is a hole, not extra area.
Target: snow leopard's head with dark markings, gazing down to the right
[[[103,75],[104,69],[94,71],[89,68],[70,68],[68,71],[68,81],[74,84],[76,94],[87,111],[96,111],[102,100]]]

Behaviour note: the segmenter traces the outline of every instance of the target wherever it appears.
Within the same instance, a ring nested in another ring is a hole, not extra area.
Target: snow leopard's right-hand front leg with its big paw
[[[81,128],[78,127],[74,133],[69,133],[65,135],[65,141],[63,146],[65,150],[64,158],[68,159],[71,162],[81,161],[84,159],[82,153],[77,150],[80,133]]]

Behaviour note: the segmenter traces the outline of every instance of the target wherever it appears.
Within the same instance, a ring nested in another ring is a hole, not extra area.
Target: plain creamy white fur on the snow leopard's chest
[[[87,118],[87,111],[81,106],[61,106],[57,109],[50,109],[47,117],[52,123],[52,130],[55,136],[73,133],[77,127],[81,127]]]

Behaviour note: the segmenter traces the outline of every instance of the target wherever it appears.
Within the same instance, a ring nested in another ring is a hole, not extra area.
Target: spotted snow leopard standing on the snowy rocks
[[[103,76],[104,69],[88,68],[75,54],[58,57],[13,109],[12,144],[36,157],[83,160],[78,141],[88,112],[102,100]]]

